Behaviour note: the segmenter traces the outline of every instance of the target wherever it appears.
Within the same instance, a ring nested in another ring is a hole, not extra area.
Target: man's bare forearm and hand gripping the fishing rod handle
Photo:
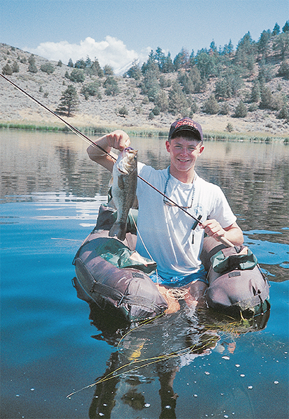
[[[244,242],[242,230],[236,222],[232,223],[229,227],[222,228],[218,221],[212,219],[202,223],[202,228],[205,229],[207,235],[214,237],[218,242],[220,241],[220,237],[225,237],[225,239],[229,240],[235,246],[239,246]]]

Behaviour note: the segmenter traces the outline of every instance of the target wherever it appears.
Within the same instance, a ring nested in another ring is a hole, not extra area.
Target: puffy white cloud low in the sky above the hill
[[[70,58],[75,63],[77,59],[86,59],[87,56],[92,60],[96,57],[101,67],[108,64],[114,68],[115,73],[121,73],[129,68],[135,59],[140,62],[146,61],[151,48],[147,47],[140,53],[128,50],[123,41],[108,35],[105,36],[105,41],[100,42],[87,37],[78,44],[68,41],[45,42],[34,49],[25,47],[24,50],[54,61],[61,59],[64,64],[67,64]]]

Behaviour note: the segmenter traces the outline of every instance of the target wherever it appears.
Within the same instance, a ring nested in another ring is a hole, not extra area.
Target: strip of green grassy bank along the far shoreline
[[[54,131],[54,132],[70,132],[67,126],[47,126],[36,124],[15,124],[0,123],[0,128],[20,129],[27,131]],[[75,127],[77,128],[77,127]],[[114,128],[106,126],[87,126],[77,128],[78,131],[89,135],[101,135],[113,131]],[[157,128],[124,128],[124,131],[130,136],[148,137],[148,138],[165,138],[168,131],[160,131]],[[225,132],[205,132],[205,140],[211,141],[245,141],[245,142],[283,142],[289,144],[289,137],[280,137],[275,135],[267,135],[265,133],[225,133]]]

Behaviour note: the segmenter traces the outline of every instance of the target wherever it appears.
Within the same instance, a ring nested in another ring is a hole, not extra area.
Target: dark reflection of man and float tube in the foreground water
[[[94,339],[104,340],[117,348],[110,355],[105,373],[96,380],[89,407],[90,419],[123,417],[124,407],[119,403],[130,406],[133,411],[149,408],[143,387],[156,379],[160,388],[154,418],[176,418],[178,395],[174,381],[179,370],[196,358],[208,357],[212,351],[229,359],[237,346],[236,337],[262,330],[269,318],[267,311],[250,321],[237,322],[207,309],[193,311],[184,306],[185,303],[177,314],[128,326],[119,323],[117,318],[104,315],[96,304],[90,305],[89,318],[100,331]],[[126,417],[130,417],[128,412]]]

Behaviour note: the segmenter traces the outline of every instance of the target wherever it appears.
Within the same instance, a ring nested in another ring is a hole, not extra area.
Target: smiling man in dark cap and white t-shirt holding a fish
[[[187,300],[198,300],[205,289],[206,273],[200,261],[204,230],[207,235],[221,237],[234,245],[243,243],[242,230],[221,189],[198,177],[195,162],[204,150],[200,124],[186,117],[170,126],[165,147],[170,154],[170,166],[155,170],[138,163],[138,173],[147,182],[162,191],[174,203],[183,207],[200,223],[173,205],[170,200],[149,185],[138,181],[138,237],[136,250],[153,258],[158,265],[157,274],[151,279],[160,285],[166,296],[170,311],[179,308],[174,298],[168,297],[168,289],[182,287],[189,293]],[[131,144],[124,131],[114,131],[96,141],[112,156],[111,149],[122,150]],[[101,149],[89,146],[91,160],[112,172],[114,160]],[[187,301],[188,302],[188,301]]]

